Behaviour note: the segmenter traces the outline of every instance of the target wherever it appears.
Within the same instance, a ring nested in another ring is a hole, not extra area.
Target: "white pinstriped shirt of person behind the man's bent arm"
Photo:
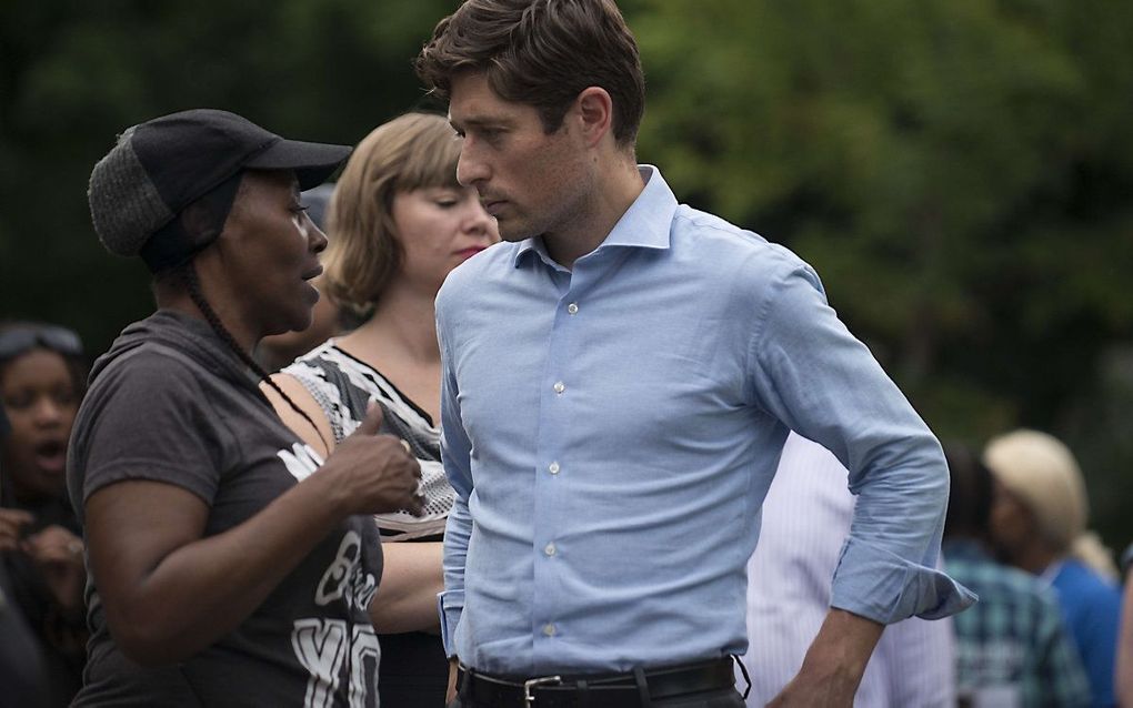
[[[846,480],[846,469],[825,447],[787,437],[748,562],[748,706],[765,706],[794,677],[829,611],[830,579],[854,507]],[[953,643],[951,617],[891,624],[854,705],[954,706]]]

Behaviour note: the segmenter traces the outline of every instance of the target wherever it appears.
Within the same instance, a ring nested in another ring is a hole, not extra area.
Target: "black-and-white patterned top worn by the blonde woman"
[[[383,413],[380,432],[409,443],[421,466],[425,513],[421,517],[403,511],[375,514],[383,539],[420,539],[444,531],[455,493],[441,467],[441,430],[428,413],[377,369],[339,349],[333,339],[299,357],[282,373],[293,376],[315,398],[331,423],[337,442],[353,433],[369,402],[376,400]]]

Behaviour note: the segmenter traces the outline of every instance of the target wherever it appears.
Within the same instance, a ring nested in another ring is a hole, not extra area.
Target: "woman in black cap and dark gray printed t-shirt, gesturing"
[[[93,631],[76,705],[375,700],[369,514],[420,511],[418,464],[377,410],[324,463],[250,357],[310,322],[326,239],[299,190],[348,154],[195,110],[128,129],[94,169],[95,230],[154,272],[159,309],[96,361],[71,437]]]

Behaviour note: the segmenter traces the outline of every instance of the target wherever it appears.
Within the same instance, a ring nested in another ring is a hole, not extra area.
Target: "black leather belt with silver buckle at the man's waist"
[[[732,658],[637,671],[629,674],[494,676],[461,666],[457,685],[463,706],[492,708],[636,708],[735,685]]]

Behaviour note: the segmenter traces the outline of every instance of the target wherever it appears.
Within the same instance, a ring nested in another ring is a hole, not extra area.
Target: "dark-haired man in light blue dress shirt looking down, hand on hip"
[[[727,657],[790,429],[859,502],[776,700],[849,705],[885,623],[970,604],[935,570],[939,444],[815,272],[637,165],[644,80],[613,2],[470,0],[417,68],[506,241],[436,307],[461,706],[742,706]]]

